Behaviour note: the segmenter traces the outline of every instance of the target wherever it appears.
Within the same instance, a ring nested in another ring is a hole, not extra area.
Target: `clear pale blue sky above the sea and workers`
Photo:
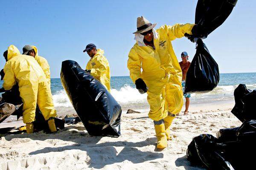
[[[128,76],[128,53],[134,45],[137,17],[162,25],[194,23],[197,0],[8,0],[0,1],[0,54],[13,44],[22,51],[26,44],[38,47],[60,77],[61,62],[77,61],[85,68],[88,43],[105,51],[112,76]],[[230,17],[204,40],[221,73],[256,72],[256,1],[238,0]],[[172,42],[180,59],[190,60],[195,43],[185,37]],[[0,68],[5,60],[0,57]]]

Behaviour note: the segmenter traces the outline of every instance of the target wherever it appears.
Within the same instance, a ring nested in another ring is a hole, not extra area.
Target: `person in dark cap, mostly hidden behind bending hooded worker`
[[[38,56],[38,49],[33,45],[25,45],[22,48],[22,51],[23,51],[24,55],[29,55],[29,56],[32,56],[35,58],[35,60],[38,62],[38,64],[43,69],[45,77],[47,79],[47,82],[48,82],[49,86],[51,87],[50,66],[49,66],[47,60],[44,57]]]

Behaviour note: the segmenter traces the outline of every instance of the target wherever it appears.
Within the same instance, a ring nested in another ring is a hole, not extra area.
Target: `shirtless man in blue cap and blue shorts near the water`
[[[189,93],[184,94],[184,89],[185,89],[186,73],[188,72],[188,69],[189,69],[189,66],[190,66],[191,62],[188,61],[189,56],[188,56],[188,53],[186,51],[183,51],[181,53],[181,59],[182,59],[182,61],[179,62],[180,63],[180,68],[182,70],[182,82],[181,82],[181,85],[182,85],[182,90],[183,90],[183,96],[186,98],[186,109],[184,111],[184,115],[187,115],[188,112],[189,112],[188,110],[189,110],[189,97],[190,97],[190,94]]]

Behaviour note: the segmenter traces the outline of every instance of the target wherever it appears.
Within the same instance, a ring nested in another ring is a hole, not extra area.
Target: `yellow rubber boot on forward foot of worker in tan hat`
[[[165,133],[164,124],[154,124],[156,135],[157,135],[157,148],[164,149],[167,147],[167,138]]]

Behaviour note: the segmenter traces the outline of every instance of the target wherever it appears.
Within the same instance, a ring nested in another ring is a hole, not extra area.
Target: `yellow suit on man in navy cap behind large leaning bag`
[[[97,53],[89,60],[86,69],[90,70],[90,74],[99,80],[110,91],[110,69],[104,51],[97,49]]]

